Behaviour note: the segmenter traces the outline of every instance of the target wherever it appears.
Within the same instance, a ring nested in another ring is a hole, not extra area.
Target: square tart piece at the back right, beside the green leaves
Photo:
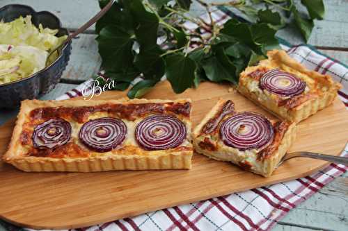
[[[330,105],[341,85],[273,50],[239,76],[238,91],[278,117],[298,123]]]

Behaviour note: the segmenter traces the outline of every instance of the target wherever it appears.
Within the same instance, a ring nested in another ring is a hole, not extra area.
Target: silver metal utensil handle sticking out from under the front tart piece
[[[325,155],[325,154],[310,153],[310,152],[287,153],[280,160],[278,166],[283,164],[283,162],[290,160],[292,158],[296,158],[296,157],[308,157],[308,158],[313,158],[313,159],[326,160],[326,161],[333,162],[336,164],[345,164],[348,166],[348,157],[341,157],[341,156],[335,156],[335,155]]]

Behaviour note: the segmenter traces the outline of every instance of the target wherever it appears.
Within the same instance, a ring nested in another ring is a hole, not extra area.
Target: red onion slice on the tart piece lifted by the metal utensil
[[[223,121],[220,137],[227,146],[245,151],[268,146],[274,139],[274,129],[261,114],[240,112]]]

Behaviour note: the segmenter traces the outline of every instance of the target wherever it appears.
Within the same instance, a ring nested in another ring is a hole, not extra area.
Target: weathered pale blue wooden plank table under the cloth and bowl
[[[57,15],[64,27],[74,31],[87,22],[99,10],[97,0],[1,0],[0,8],[10,3],[22,3],[35,10],[49,10]],[[313,34],[308,41],[319,51],[348,64],[348,1],[326,0],[325,20],[315,22]],[[201,14],[193,6],[196,15]],[[280,31],[278,36],[301,44],[303,40],[293,28]],[[61,83],[42,99],[55,99],[74,88],[77,83],[92,77],[100,69],[101,58],[97,52],[94,28],[79,35],[72,42],[70,62],[63,73]],[[16,112],[0,110],[0,124],[15,116]],[[336,178],[298,207],[292,209],[278,222],[274,230],[348,230],[348,173]],[[1,231],[1,226],[0,226]]]

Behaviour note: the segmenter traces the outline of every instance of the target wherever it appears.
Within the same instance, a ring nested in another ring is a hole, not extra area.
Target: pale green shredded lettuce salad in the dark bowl
[[[45,68],[47,55],[59,46],[65,36],[56,37],[58,30],[36,28],[31,16],[13,22],[0,22],[0,84],[30,76]],[[54,57],[51,58],[55,59]],[[57,55],[56,55],[57,56]]]

